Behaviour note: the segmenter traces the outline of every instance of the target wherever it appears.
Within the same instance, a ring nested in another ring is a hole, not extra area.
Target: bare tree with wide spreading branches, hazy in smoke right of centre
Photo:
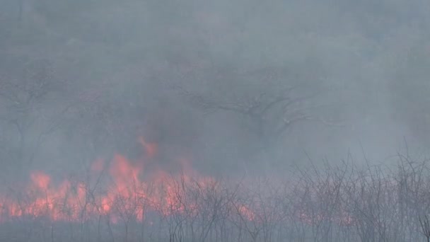
[[[264,69],[262,72],[264,76],[261,81],[265,84],[260,87],[261,90],[252,91],[246,95],[238,93],[231,100],[226,99],[226,97],[215,98],[194,93],[182,86],[176,86],[176,88],[193,105],[201,108],[205,113],[227,111],[245,117],[245,120],[248,120],[250,131],[262,142],[279,140],[286,130],[296,122],[305,120],[324,122],[324,120],[312,113],[313,110],[318,109],[318,105],[313,104],[315,97],[320,94],[318,91],[306,90],[308,88],[300,84],[269,86],[276,85],[277,82],[274,82],[274,79],[283,79],[285,77],[272,76],[274,75],[271,73],[273,70],[270,69]],[[233,74],[231,78],[255,79],[256,77],[252,73],[245,73]],[[251,80],[248,80],[248,82],[249,85],[252,85]]]

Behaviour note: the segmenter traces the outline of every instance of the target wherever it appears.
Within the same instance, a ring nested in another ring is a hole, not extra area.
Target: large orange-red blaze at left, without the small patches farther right
[[[145,149],[145,159],[156,156],[156,144],[146,142],[143,138],[139,142]],[[189,161],[181,160],[180,163],[185,170],[180,174],[182,182],[194,182],[202,186],[211,182],[211,178],[192,181],[187,176],[192,172]],[[186,208],[179,201],[178,190],[172,182],[175,175],[158,170],[146,175],[144,180],[143,171],[144,162],[134,164],[125,156],[117,154],[110,164],[102,159],[93,162],[92,175],[100,178],[102,173],[107,173],[105,176],[108,177],[103,182],[108,185],[97,184],[98,188],[92,188],[88,183],[73,183],[71,180],[64,180],[56,185],[50,175],[33,172],[30,174],[31,183],[19,198],[0,197],[0,221],[16,217],[82,221],[94,216],[109,216],[113,222],[124,216],[143,221],[146,209],[157,210],[167,216],[196,207],[190,204]]]

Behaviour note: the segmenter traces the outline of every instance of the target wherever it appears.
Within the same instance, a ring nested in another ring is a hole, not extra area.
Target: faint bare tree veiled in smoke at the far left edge
[[[77,104],[67,98],[66,82],[49,62],[29,65],[21,76],[0,77],[0,122],[7,130],[2,138],[9,146],[2,148],[9,159],[23,166],[33,163],[47,137],[64,124],[66,113]]]

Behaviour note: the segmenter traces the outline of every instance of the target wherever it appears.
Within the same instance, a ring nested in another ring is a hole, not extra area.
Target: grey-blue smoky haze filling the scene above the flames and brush
[[[427,1],[0,4],[5,171],[139,156],[139,137],[207,172],[430,144]],[[279,96],[303,100],[260,129],[247,107]]]

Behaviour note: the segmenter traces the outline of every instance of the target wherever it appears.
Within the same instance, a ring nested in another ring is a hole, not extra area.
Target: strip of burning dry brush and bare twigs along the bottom
[[[35,174],[33,190],[3,197],[0,231],[13,241],[423,241],[429,165],[407,153],[390,166],[349,156],[284,179],[182,170],[143,181],[117,156],[115,182],[104,169],[57,188]]]

